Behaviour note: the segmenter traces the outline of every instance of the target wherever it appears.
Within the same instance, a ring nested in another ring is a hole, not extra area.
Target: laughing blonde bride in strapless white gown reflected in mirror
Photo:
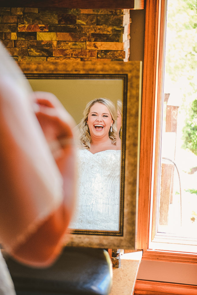
[[[78,201],[70,228],[119,230],[121,150],[112,101],[90,101],[80,123]]]

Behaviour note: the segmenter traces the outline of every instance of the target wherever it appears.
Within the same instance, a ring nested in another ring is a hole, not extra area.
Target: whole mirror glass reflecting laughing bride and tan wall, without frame
[[[73,233],[120,233],[125,81],[120,76],[103,79],[103,75],[99,79],[71,79],[70,76],[62,79],[61,75],[51,79],[50,75],[31,74],[27,78],[33,90],[55,94],[76,121],[78,198],[69,227]],[[99,99],[92,100],[92,97]]]

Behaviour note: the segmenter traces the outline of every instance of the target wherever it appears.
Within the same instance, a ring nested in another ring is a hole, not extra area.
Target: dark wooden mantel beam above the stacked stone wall
[[[144,0],[2,0],[1,7],[143,9]]]

